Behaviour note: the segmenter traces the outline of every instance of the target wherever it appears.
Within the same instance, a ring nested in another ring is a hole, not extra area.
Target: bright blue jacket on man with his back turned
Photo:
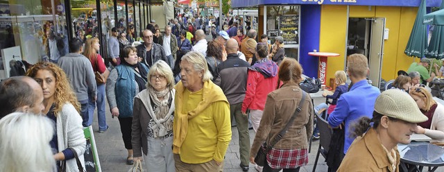
[[[349,137],[350,124],[361,117],[373,117],[373,110],[377,96],[381,92],[377,87],[367,83],[367,80],[361,80],[350,88],[350,90],[341,95],[336,108],[328,117],[330,126],[336,128],[342,122],[345,122],[345,141],[344,154],[355,138]]]

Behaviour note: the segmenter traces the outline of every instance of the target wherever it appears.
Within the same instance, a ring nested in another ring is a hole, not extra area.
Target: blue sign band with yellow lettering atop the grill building
[[[180,1],[180,0],[179,0]],[[262,5],[300,5],[300,4],[312,4],[312,5],[343,5],[343,6],[419,6],[420,0],[349,0],[347,2],[330,1],[330,0],[231,0],[232,8],[244,8]],[[441,4],[441,0],[427,0],[427,6],[438,7]]]

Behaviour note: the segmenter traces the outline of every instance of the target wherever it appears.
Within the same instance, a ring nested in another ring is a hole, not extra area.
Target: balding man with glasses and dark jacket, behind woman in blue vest
[[[142,32],[142,36],[144,44],[140,44],[136,47],[137,56],[142,58],[142,63],[148,66],[148,68],[159,60],[164,60],[168,64],[171,64],[167,55],[165,55],[162,45],[153,42],[153,32],[145,29]]]

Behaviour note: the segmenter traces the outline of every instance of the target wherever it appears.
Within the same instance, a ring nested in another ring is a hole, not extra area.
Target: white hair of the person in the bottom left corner
[[[54,123],[42,115],[14,112],[0,120],[2,171],[54,171],[56,161],[49,141]]]

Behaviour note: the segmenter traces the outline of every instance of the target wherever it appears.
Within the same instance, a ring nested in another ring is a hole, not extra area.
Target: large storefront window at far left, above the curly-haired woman
[[[67,53],[65,1],[55,0],[55,5],[56,21],[52,15],[51,0],[0,2],[0,49],[4,55],[0,57],[1,79],[15,74],[15,67],[10,64],[22,60],[30,64],[49,60],[46,31],[53,31],[63,43],[58,53]],[[56,58],[59,57],[54,57],[54,60]]]

